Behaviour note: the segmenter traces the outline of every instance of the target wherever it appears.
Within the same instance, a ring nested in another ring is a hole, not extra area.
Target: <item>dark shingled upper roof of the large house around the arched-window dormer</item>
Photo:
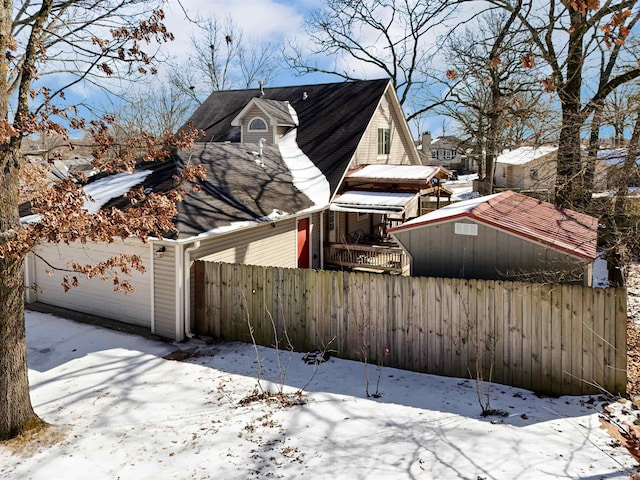
[[[327,178],[333,195],[388,85],[381,79],[274,87],[265,88],[263,98],[288,101],[295,109],[298,145]],[[240,142],[240,127],[231,121],[259,95],[259,89],[213,92],[187,124],[205,132],[202,142]]]

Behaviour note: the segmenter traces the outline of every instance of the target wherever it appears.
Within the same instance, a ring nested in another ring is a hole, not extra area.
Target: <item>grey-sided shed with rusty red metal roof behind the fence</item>
[[[454,203],[389,233],[411,275],[592,284],[598,220],[513,191]]]

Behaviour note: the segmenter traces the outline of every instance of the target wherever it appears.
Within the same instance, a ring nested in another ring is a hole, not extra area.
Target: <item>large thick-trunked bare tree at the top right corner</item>
[[[528,32],[533,48],[522,57],[523,64],[533,66],[540,60],[547,69],[543,85],[557,94],[562,111],[555,203],[584,210],[591,186],[581,157],[581,130],[602,100],[640,75],[635,58],[625,55],[640,16],[632,12],[636,0],[530,2],[522,8],[507,0],[489,3],[515,14]],[[590,82],[584,72],[594,62],[603,67],[598,80]]]

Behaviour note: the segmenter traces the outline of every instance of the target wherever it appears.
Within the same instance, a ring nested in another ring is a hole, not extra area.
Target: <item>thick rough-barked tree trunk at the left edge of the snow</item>
[[[0,241],[19,228],[17,150],[0,149]],[[29,398],[23,258],[0,258],[0,440],[41,426]]]

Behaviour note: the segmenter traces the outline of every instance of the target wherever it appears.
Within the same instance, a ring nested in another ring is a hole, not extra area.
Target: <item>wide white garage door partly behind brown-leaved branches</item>
[[[130,277],[121,276],[120,278],[129,280],[136,289],[135,293],[130,294],[114,292],[113,281],[110,279],[88,280],[81,274],[74,274],[78,277],[80,285],[65,293],[61,286],[65,272],[52,270],[45,261],[36,256],[35,267],[32,270],[33,279],[37,285],[35,296],[41,303],[133,325],[151,326],[152,275],[149,270],[151,262],[148,245],[139,242],[56,244],[38,247],[37,253],[56,268],[69,268],[73,260],[80,264],[93,264],[105,261],[119,253],[139,255],[147,271],[144,274],[134,271]]]

